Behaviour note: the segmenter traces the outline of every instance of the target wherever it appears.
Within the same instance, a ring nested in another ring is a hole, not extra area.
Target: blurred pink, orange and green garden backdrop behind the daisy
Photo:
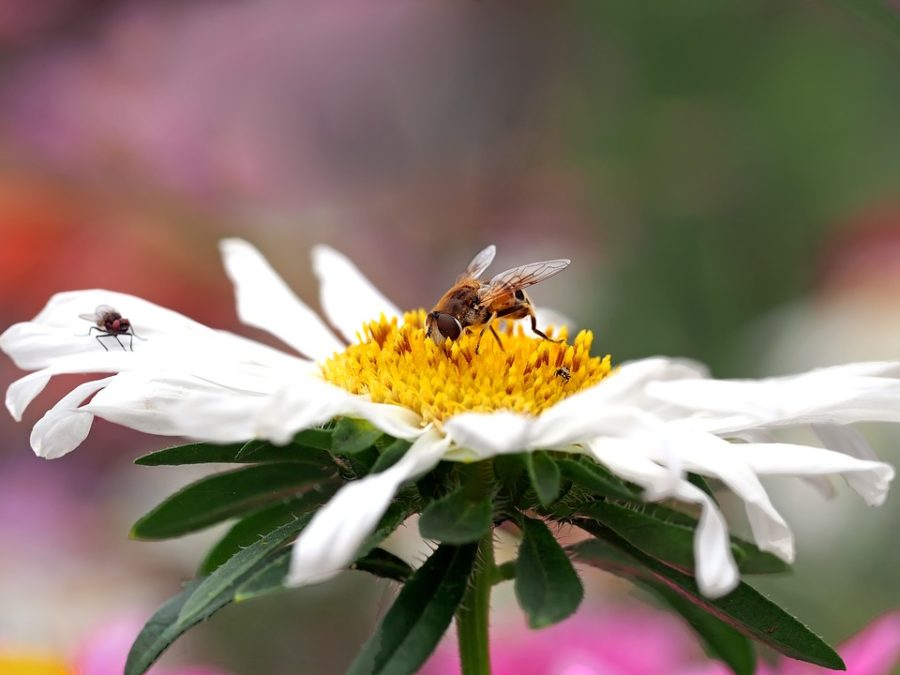
[[[755,377],[897,358],[890,7],[4,0],[0,324],[108,287],[260,337],[237,324],[223,236],[254,242],[313,305],[308,250],[331,244],[407,308],[496,243],[496,269],[572,258],[533,297],[617,362],[684,355]],[[0,374],[20,375],[7,359]],[[127,539],[192,478],[132,466],[159,439],[98,421],[72,455],[33,457],[30,427],[65,384],[22,424],[0,416],[8,663],[83,664],[117,635],[127,649],[206,543]],[[869,431],[900,461],[900,435]],[[900,607],[897,491],[869,510],[844,489],[779,488],[797,572],[761,589],[834,643]],[[586,611],[633,602],[587,578]],[[229,607],[161,663],[340,673],[393,593],[348,573]],[[495,608],[521,623],[503,593]]]

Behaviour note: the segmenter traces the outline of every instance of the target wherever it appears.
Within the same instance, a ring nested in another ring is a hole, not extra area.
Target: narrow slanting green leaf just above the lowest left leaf
[[[223,593],[228,593],[230,596],[246,575],[253,572],[267,557],[295,537],[306,527],[311,518],[310,514],[306,514],[285,523],[229,558],[215,572],[200,582],[197,590],[179,611],[178,623],[196,623],[197,617],[202,617],[209,606],[217,601],[217,598]]]

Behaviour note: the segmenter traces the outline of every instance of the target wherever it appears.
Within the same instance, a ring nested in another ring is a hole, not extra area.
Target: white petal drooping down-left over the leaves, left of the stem
[[[345,569],[375,529],[400,485],[431,469],[448,446],[449,439],[431,430],[386,471],[341,488],[294,543],[286,583],[295,586],[317,583]]]

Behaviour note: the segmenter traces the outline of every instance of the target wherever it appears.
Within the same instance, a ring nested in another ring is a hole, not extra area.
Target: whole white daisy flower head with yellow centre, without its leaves
[[[593,336],[571,344],[506,331],[504,349],[464,334],[425,338],[424,312],[401,315],[344,256],[313,250],[326,324],[248,243],[222,243],[240,319],[295,354],[213,330],[134,296],[105,290],[54,296],[0,348],[34,372],[6,403],[17,420],[53,375],[109,373],[75,387],[35,425],[35,452],[77,447],[93,417],[160,435],[214,442],[289,442],[337,416],[368,420],[412,441],[389,469],[347,483],[294,545],[289,582],[327,579],[351,563],[401,485],[441,460],[559,450],[592,456],[641,486],[648,500],[701,509],[694,543],[702,592],[739,581],[728,526],[688,473],[720,480],[744,503],[762,550],[790,562],[791,530],[760,477],[840,475],[869,504],[884,501],[894,470],[849,425],[900,421],[900,364],[863,363],[787,378],[718,381],[693,362],[649,358],[612,368],[591,356]],[[104,349],[79,315],[109,305],[145,341]],[[329,327],[333,326],[339,334]],[[563,331],[560,335],[565,335]],[[823,447],[780,443],[773,432],[810,426]]]

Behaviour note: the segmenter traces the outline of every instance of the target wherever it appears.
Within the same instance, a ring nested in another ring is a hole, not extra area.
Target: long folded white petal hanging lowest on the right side
[[[588,444],[597,461],[611,471],[658,494],[700,505],[702,512],[694,535],[694,566],[697,585],[707,597],[730,593],[738,585],[740,575],[731,553],[728,526],[712,499],[687,481],[679,482],[668,494],[663,487],[670,484],[669,472],[642,456],[639,448],[628,441],[601,440]]]

